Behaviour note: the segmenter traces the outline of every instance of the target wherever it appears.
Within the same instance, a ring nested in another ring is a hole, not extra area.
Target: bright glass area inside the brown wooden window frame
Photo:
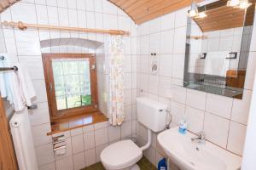
[[[57,110],[91,105],[89,59],[54,59]]]

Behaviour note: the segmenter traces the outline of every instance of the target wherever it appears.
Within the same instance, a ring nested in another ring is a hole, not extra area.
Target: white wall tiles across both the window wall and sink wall
[[[174,123],[187,117],[191,131],[197,133],[200,130],[205,130],[207,139],[241,154],[243,135],[247,124],[248,102],[253,87],[253,72],[256,68],[253,48],[249,54],[245,85],[247,91],[244,98],[242,100],[215,98],[211,94],[187,90],[180,86],[183,82],[187,8],[166,14],[136,27],[125,13],[107,0],[35,0],[29,1],[30,3],[26,2],[15,3],[1,14],[1,19],[56,26],[122,28],[131,31],[131,37],[126,37],[126,42],[129,45],[125,48],[125,56],[127,55],[127,62],[125,61],[126,78],[128,79],[127,82],[131,82],[125,89],[125,109],[131,111],[131,113],[127,113],[128,119],[125,120],[122,127],[109,127],[108,122],[103,122],[95,126],[66,132],[67,154],[65,156],[54,156],[52,144],[45,133],[42,136],[34,135],[40,170],[88,167],[99,161],[100,150],[119,139],[132,136],[137,137],[138,144],[145,143],[147,130],[136,121],[137,94],[148,95],[150,98],[165,102],[171,107]],[[67,16],[68,20],[64,20],[64,15]],[[218,35],[215,34],[212,32],[208,37],[219,36],[219,32],[217,32]],[[38,110],[32,111],[31,114],[32,127],[35,132],[37,129],[49,129],[43,67],[42,61],[38,58],[41,55],[39,41],[49,39],[49,37],[82,37],[103,41],[103,37],[95,34],[58,31],[14,31],[9,28],[3,29],[3,35],[10,58],[14,62],[26,63],[32,74],[38,94],[38,98],[34,101],[38,104]],[[255,35],[254,26],[253,40],[256,39]],[[253,44],[252,42],[252,46]],[[81,50],[71,47],[64,49]],[[49,48],[49,50],[60,52],[60,48]],[[151,52],[159,53],[157,54],[159,70],[154,75],[150,72],[150,65],[152,65],[153,60],[149,57]],[[35,65],[37,65],[38,71],[33,71]],[[143,92],[137,88],[143,89]],[[165,89],[172,89],[173,98],[171,100],[166,99]],[[220,100],[227,102],[227,105],[221,104]],[[215,101],[218,102],[217,105]],[[216,120],[216,122],[212,124],[212,120]],[[70,133],[72,133],[72,137]],[[156,144],[156,134],[153,135],[153,141],[155,141],[153,145],[144,154],[156,164],[164,156],[164,152],[160,149],[159,144]]]

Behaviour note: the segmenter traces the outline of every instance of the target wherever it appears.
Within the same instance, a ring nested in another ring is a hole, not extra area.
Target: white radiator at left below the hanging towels
[[[15,113],[10,120],[10,128],[15,144],[15,153],[20,170],[38,170],[38,163],[32,139],[32,129],[25,109]]]

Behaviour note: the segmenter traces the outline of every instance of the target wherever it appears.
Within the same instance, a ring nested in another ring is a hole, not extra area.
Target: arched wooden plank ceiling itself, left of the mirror
[[[188,7],[191,0],[109,0],[123,9],[137,24],[171,13],[179,8]],[[195,2],[201,2],[196,0]]]

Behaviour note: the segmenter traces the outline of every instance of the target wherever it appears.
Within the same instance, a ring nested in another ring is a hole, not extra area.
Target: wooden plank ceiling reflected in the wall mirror
[[[247,8],[246,26],[253,25],[254,10],[255,2],[251,7]],[[227,7],[226,1],[223,0],[207,5],[206,18],[194,20],[203,32],[217,31],[244,26],[244,15],[244,9]]]

